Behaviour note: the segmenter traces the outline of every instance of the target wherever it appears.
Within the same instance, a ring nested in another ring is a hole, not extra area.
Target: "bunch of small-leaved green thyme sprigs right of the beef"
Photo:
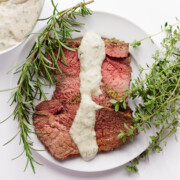
[[[126,92],[129,98],[141,98],[143,104],[136,105],[134,126],[127,127],[124,124],[127,131],[121,130],[118,138],[123,140],[129,136],[132,139],[137,129],[144,132],[152,127],[157,129],[156,135],[150,136],[149,147],[126,167],[130,172],[138,171],[139,159],[147,157],[152,151],[162,151],[169,137],[176,137],[176,131],[180,127],[180,28],[173,28],[165,23],[164,29],[166,37],[161,42],[161,50],[157,50],[152,56],[152,67],[147,65],[146,69],[140,68],[140,75],[144,72],[145,79],[139,76]],[[149,73],[146,73],[147,69]],[[122,102],[125,100],[116,101],[114,106]]]

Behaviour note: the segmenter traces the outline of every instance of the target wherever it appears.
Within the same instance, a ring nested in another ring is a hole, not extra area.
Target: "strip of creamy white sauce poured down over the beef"
[[[70,135],[82,158],[86,161],[93,159],[97,152],[96,132],[96,110],[102,107],[97,105],[92,96],[98,96],[102,92],[101,65],[105,58],[105,44],[101,37],[93,32],[84,35],[78,50],[81,63],[80,92],[81,103],[76,117],[70,129]]]

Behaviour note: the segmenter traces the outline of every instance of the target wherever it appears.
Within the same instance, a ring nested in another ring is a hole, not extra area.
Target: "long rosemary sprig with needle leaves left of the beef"
[[[34,110],[33,101],[35,99],[41,99],[41,97],[47,100],[42,86],[48,85],[51,87],[56,83],[53,72],[59,71],[59,73],[62,73],[58,62],[66,65],[63,49],[75,50],[68,47],[66,40],[72,38],[72,32],[78,32],[74,28],[74,25],[83,25],[76,21],[76,16],[91,15],[91,11],[86,5],[94,1],[83,1],[64,11],[58,11],[57,5],[54,4],[53,0],[51,2],[54,11],[52,16],[46,18],[47,27],[38,35],[26,60],[14,73],[20,73],[20,77],[17,82],[16,91],[11,97],[11,105],[15,104],[13,117],[19,123],[19,130],[16,136],[20,134],[20,139],[27,157],[25,169],[30,163],[34,173],[34,163],[38,162],[32,155],[33,142],[31,141],[30,134],[33,131],[29,117]],[[54,50],[58,50],[58,54],[55,54]],[[49,61],[48,57],[50,57],[51,61]]]

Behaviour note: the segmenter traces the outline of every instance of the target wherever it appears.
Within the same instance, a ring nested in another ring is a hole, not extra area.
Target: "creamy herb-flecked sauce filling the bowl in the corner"
[[[0,0],[0,51],[21,42],[39,17],[42,0]]]

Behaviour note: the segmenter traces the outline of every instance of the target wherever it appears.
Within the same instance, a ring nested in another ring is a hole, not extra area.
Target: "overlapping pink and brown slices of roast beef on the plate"
[[[67,43],[78,48],[80,40],[69,40]],[[102,64],[102,94],[93,96],[97,104],[103,106],[96,112],[96,138],[99,151],[110,151],[124,143],[117,138],[120,129],[125,130],[124,123],[133,125],[129,107],[115,112],[110,99],[124,97],[124,90],[131,80],[131,59],[127,43],[111,39],[105,40],[106,58]],[[55,52],[57,53],[57,52]],[[69,129],[81,101],[80,95],[80,62],[77,51],[64,50],[67,65],[59,62],[63,74],[56,72],[56,85],[52,100],[44,101],[36,107],[33,116],[35,131],[48,151],[57,159],[63,160],[79,154]],[[128,140],[128,138],[127,138]]]

